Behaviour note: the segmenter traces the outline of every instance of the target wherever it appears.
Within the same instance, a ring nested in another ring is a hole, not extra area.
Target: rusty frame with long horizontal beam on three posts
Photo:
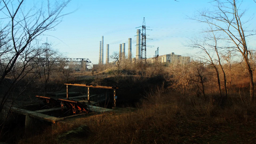
[[[68,90],[68,85],[73,85],[73,86],[84,86],[84,87],[87,87],[88,89],[88,103],[90,103],[90,87],[93,87],[93,88],[103,88],[103,89],[113,89],[114,91],[114,106],[113,108],[116,107],[116,89],[118,89],[118,87],[115,87],[115,86],[99,86],[99,85],[86,85],[86,84],[66,84],[66,88],[67,88],[67,99],[69,99],[69,90]]]

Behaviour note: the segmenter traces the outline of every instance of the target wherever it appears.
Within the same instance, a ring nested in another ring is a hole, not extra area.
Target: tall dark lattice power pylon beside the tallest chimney
[[[146,24],[145,17],[143,18],[142,33],[141,33],[141,60],[146,61]]]

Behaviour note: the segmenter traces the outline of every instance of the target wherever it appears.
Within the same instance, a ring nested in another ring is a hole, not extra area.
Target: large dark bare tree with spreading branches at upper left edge
[[[40,10],[37,10],[36,6],[30,10],[25,11],[23,6],[24,0],[16,1],[17,5],[14,5],[11,0],[2,0],[0,3],[0,12],[6,15],[4,18],[7,24],[4,28],[6,41],[8,42],[8,48],[4,51],[10,58],[4,65],[4,69],[0,76],[0,84],[3,79],[12,72],[12,68],[19,59],[20,55],[24,53],[25,49],[31,44],[37,36],[43,32],[53,29],[60,23],[61,18],[65,14],[61,14],[64,7],[70,2],[70,0],[58,2],[56,7],[51,7],[51,3],[48,0],[48,12],[43,11],[43,4]],[[36,10],[35,10],[36,9]],[[2,47],[1,47],[2,48]]]

